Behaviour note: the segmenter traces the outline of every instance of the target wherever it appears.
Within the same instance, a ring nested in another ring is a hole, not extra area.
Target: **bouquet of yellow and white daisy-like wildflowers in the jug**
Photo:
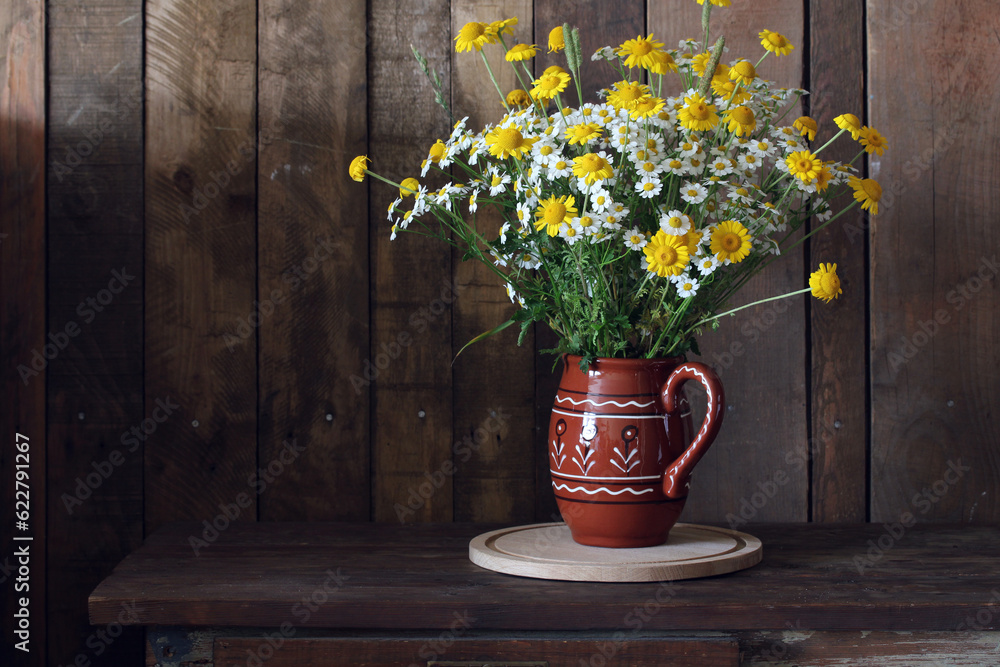
[[[599,91],[600,104],[583,103],[584,63],[570,26],[549,34],[550,52],[564,50],[568,70],[535,76],[528,65],[538,48],[513,42],[516,18],[469,23],[456,49],[479,51],[487,68],[482,49],[504,49],[523,86],[505,93],[490,70],[506,113],[478,132],[462,119],[431,146],[420,176],[443,174],[443,184],[396,183],[370,171],[365,156],[352,162],[355,180],[369,174],[399,188],[389,207],[392,238],[404,231],[440,238],[506,285],[518,308],[477,339],[544,321],[559,336],[555,351],[583,363],[698,352],[705,327],[754,305],[729,308],[754,274],[804,240],[793,235],[807,219],[820,222],[814,234],[854,206],[878,212],[878,183],[855,176],[851,164],[823,160],[830,142],[809,146],[813,119],[786,120],[806,91],[757,75],[764,58],[794,47],[764,30],[756,65],[723,64],[723,39],[704,50],[710,11],[706,3],[704,44],[687,39],[667,49],[640,35],[593,54],[588,66],[621,77]],[[573,92],[576,107],[564,99]],[[836,123],[834,139],[849,133],[860,143],[852,162],[885,150],[885,138],[856,116]],[[845,188],[854,201],[834,212],[831,200]],[[499,212],[499,231],[477,224],[480,207]],[[836,265],[820,265],[809,285],[772,299],[808,291],[835,298]]]

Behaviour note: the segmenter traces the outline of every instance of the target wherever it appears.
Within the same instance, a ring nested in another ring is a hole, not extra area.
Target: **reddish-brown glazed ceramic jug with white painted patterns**
[[[549,469],[563,520],[580,544],[663,544],[684,508],[691,471],[722,424],[722,383],[708,366],[682,357],[601,358],[586,372],[579,364],[580,357],[563,357],[549,422]],[[688,380],[708,399],[693,438]]]

